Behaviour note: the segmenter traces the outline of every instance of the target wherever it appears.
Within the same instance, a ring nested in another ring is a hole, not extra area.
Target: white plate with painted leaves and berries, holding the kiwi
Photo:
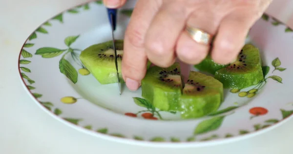
[[[123,12],[118,14],[116,39],[124,39],[129,21],[126,14],[130,12]],[[158,120],[145,119],[141,114],[149,109],[137,105],[133,98],[142,98],[140,89],[130,92],[124,86],[123,95],[119,96],[117,84],[101,85],[91,74],[79,73],[83,68],[80,51],[111,40],[105,6],[99,1],[66,10],[44,22],[25,41],[19,70],[23,85],[35,102],[77,130],[129,144],[206,146],[263,133],[284,123],[293,113],[292,30],[264,15],[251,28],[250,39],[260,49],[263,65],[270,68],[266,82],[252,98],[239,97],[226,89],[219,111],[231,110],[197,119],[182,120],[178,113],[158,109],[153,111]],[[64,97],[74,103],[63,103]],[[253,115],[255,112],[260,115]],[[139,114],[130,117],[126,113]]]

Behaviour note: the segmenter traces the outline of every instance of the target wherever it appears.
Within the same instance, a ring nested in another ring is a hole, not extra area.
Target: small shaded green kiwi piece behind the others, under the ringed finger
[[[214,62],[210,55],[208,55],[204,60],[202,60],[200,63],[194,65],[195,68],[197,68],[199,71],[208,72],[212,75],[216,73],[221,68],[226,67],[227,65],[222,65]]]

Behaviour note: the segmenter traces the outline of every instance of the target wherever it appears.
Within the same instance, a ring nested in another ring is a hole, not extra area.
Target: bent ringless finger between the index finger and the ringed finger
[[[175,45],[185,26],[188,12],[182,2],[165,3],[146,33],[147,58],[155,65],[169,67],[175,61]]]

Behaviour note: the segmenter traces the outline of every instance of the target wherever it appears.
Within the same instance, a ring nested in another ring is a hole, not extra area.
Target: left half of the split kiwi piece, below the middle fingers
[[[168,68],[150,67],[141,81],[142,96],[158,109],[177,111],[183,87],[180,71],[178,62]]]

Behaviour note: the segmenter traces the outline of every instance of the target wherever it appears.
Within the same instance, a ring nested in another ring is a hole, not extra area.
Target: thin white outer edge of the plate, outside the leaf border
[[[95,0],[95,1],[102,1],[102,0]],[[53,15],[51,18],[46,19],[44,22],[42,22],[37,28],[35,28],[35,30],[32,31],[32,33],[27,37],[27,39],[24,40],[24,43],[21,46],[20,49],[20,53],[19,53],[19,58],[18,58],[18,73],[19,73],[19,77],[21,78],[21,84],[22,86],[24,86],[24,89],[26,91],[26,93],[29,94],[29,96],[33,99],[33,101],[44,111],[46,112],[48,115],[52,116],[53,118],[55,118],[56,120],[62,122],[63,124],[77,130],[80,132],[83,132],[84,134],[87,135],[91,135],[91,136],[95,136],[95,137],[99,137],[102,139],[106,139],[109,141],[114,141],[114,142],[119,142],[119,143],[124,143],[124,144],[130,144],[130,145],[139,145],[139,146],[146,146],[146,147],[166,147],[166,148],[188,148],[188,147],[206,147],[206,146],[214,146],[214,145],[221,145],[221,144],[227,144],[230,142],[234,142],[234,141],[240,141],[246,138],[250,138],[250,137],[255,137],[257,135],[263,134],[263,133],[267,133],[281,125],[283,125],[284,123],[286,123],[287,121],[289,121],[290,119],[292,119],[293,117],[293,113],[285,118],[280,119],[278,122],[273,123],[272,125],[260,129],[260,130],[255,130],[253,132],[250,132],[248,134],[244,134],[244,135],[236,135],[233,137],[229,137],[229,138],[216,138],[216,139],[212,139],[212,140],[208,140],[208,141],[180,141],[180,142],[170,142],[170,141],[164,141],[164,142],[153,142],[153,141],[148,141],[148,140],[135,140],[133,138],[122,138],[122,137],[117,137],[117,136],[112,136],[112,135],[107,135],[107,134],[103,134],[100,132],[96,132],[93,130],[88,130],[84,127],[81,127],[79,125],[75,125],[72,124],[68,121],[66,121],[65,119],[61,118],[60,116],[55,115],[52,111],[47,110],[42,104],[41,102],[33,95],[33,93],[31,92],[31,90],[27,87],[27,84],[24,81],[24,78],[21,76],[21,52],[22,49],[24,48],[24,45],[26,44],[26,42],[28,41],[29,37],[39,28],[41,27],[44,23],[46,23],[47,21],[53,19],[55,16],[58,16],[59,14],[66,12],[70,9],[76,8],[78,6],[82,6],[84,4],[89,4],[95,1],[87,1],[87,2],[83,2],[77,5],[74,5],[72,7],[68,7],[67,9],[64,9],[63,11]],[[283,25],[289,27],[289,28],[293,28],[293,26],[290,26],[282,21],[280,21],[279,19],[277,19],[275,16],[269,14],[269,13],[263,13],[263,15],[267,15],[269,17],[272,17],[274,20],[282,23]],[[261,19],[261,18],[260,18]],[[253,25],[252,25],[253,26]]]

